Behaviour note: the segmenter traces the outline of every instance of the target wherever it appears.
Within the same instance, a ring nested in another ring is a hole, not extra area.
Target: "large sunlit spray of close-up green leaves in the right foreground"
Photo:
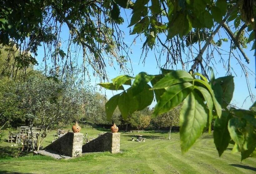
[[[114,81],[118,78],[120,76]],[[130,79],[132,77],[129,77]],[[148,85],[149,82],[151,82],[152,87]],[[113,84],[116,85],[116,89],[120,87],[117,83],[113,82]],[[100,85],[102,86],[102,84]],[[146,86],[147,88],[145,88]],[[169,112],[184,101],[180,111],[182,153],[190,149],[205,128],[208,128],[210,132],[213,116],[217,116],[214,125],[214,143],[219,156],[227,148],[230,140],[235,142],[234,149],[241,152],[242,160],[249,157],[254,151],[255,104],[250,108],[250,111],[227,108],[234,92],[233,76],[215,79],[212,72],[211,81],[208,82],[199,73],[194,73],[191,76],[188,72],[181,70],[162,69],[162,74],[159,75],[148,75],[142,72],[135,77],[131,87],[121,94],[115,95],[109,101],[116,101],[119,95],[118,107],[122,117],[126,119],[128,115],[132,115],[133,112],[151,104],[153,94],[147,94],[147,91],[154,92],[157,101],[152,114],[153,117]],[[150,95],[152,97],[147,97]],[[145,103],[143,104],[141,101]],[[116,102],[113,102],[113,108],[112,106],[109,107],[109,104],[107,106],[106,113],[111,113],[116,108]],[[244,116],[245,113],[246,116]],[[111,114],[107,115],[107,117],[110,116]]]

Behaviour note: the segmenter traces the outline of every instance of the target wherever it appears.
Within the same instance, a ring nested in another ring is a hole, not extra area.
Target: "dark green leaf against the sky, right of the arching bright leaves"
[[[223,90],[221,106],[227,107],[232,100],[234,93],[234,76],[219,77],[214,80],[214,83],[219,84]],[[215,85],[214,85],[215,86]]]

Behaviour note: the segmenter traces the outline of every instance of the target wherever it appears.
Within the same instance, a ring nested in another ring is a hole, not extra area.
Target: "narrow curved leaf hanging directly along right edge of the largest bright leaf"
[[[211,122],[212,122],[212,110],[213,110],[213,100],[212,96],[209,93],[209,91],[201,86],[194,86],[195,89],[199,90],[200,93],[203,95],[204,100],[206,101],[208,110],[209,110],[209,117],[208,117],[208,122],[209,122],[209,133],[211,132]]]

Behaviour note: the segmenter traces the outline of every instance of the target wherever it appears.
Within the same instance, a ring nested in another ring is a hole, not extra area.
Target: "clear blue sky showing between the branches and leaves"
[[[129,16],[129,10],[126,11],[127,16]],[[123,11],[121,12],[122,16],[125,16]],[[136,35],[129,35],[129,28],[127,28],[128,26],[128,22],[125,19],[125,22],[122,26],[120,26],[120,29],[123,30],[125,32],[125,37],[124,37],[124,41],[126,42],[126,44],[130,45],[134,39],[134,37]],[[132,27],[133,28],[133,27]],[[132,30],[131,28],[131,30]],[[68,34],[69,34],[69,30],[66,26],[62,27],[62,32],[61,32],[61,38],[62,38],[62,49],[64,50],[64,52],[66,52],[66,42],[65,40],[68,40]],[[225,38],[228,38],[227,35],[221,31],[220,34],[222,36],[224,36]],[[163,38],[163,41],[165,41],[165,38],[161,36],[161,38]],[[131,50],[132,50],[132,54],[130,54],[130,58],[132,61],[132,68],[133,68],[133,72],[130,72],[130,75],[134,74],[134,76],[136,74],[138,74],[141,71],[145,71],[148,74],[159,74],[159,68],[157,68],[156,65],[156,60],[155,60],[155,54],[154,54],[154,49],[152,51],[149,51],[148,56],[146,58],[145,64],[142,64],[140,61],[140,54],[142,52],[142,44],[145,42],[145,38],[142,37],[142,41],[140,40],[140,37],[136,40],[136,44],[132,44],[131,46]],[[202,43],[203,45],[204,43]],[[226,43],[223,45],[223,49],[229,49],[230,43]],[[244,58],[241,57],[241,61],[246,64],[246,66],[249,67],[249,69],[251,69],[254,73],[255,73],[255,57],[254,57],[254,50],[253,51],[249,51],[251,49],[251,46],[248,46],[248,49],[245,49],[245,53],[247,54],[247,56],[250,58],[250,64],[247,64],[244,61]],[[195,50],[194,50],[195,52]],[[237,54],[237,53],[236,53]],[[37,60],[39,62],[39,66],[40,63],[42,63],[42,58],[44,57],[44,52],[43,52],[43,48],[39,48],[38,49],[38,56],[37,56]],[[185,57],[185,55],[184,55]],[[228,60],[228,55],[222,55],[222,57],[224,58],[224,60]],[[214,58],[217,62],[217,64],[215,65],[215,77],[220,77],[220,76],[225,76],[226,71],[223,67],[222,63],[218,63],[219,61],[219,55],[215,54]],[[165,59],[165,56],[163,56],[163,59]],[[82,60],[82,56],[79,57],[79,62],[81,62]],[[140,61],[140,63],[139,63]],[[163,65],[164,61],[161,62]],[[108,62],[106,62],[106,64],[108,65]],[[241,67],[239,66],[238,62],[235,61],[234,57],[231,58],[231,65],[234,68],[234,71],[236,72],[237,76],[235,76],[234,74],[232,74],[234,77],[234,83],[235,83],[235,90],[234,90],[234,95],[233,95],[233,99],[232,99],[232,104],[236,105],[239,108],[244,108],[244,109],[248,109],[251,105],[252,102],[250,101],[250,98],[247,98],[246,102],[244,103],[245,98],[249,95],[248,89],[247,89],[247,85],[246,85],[246,80],[245,80],[245,76],[241,70]],[[124,72],[120,71],[119,66],[115,65],[116,70],[113,67],[107,66],[106,70],[108,72],[108,76],[110,79],[118,76],[118,75],[122,75],[124,74]],[[128,64],[128,66],[130,66]],[[191,64],[188,66],[190,67]],[[179,63],[177,65],[177,67],[175,67],[175,69],[182,69],[181,64]],[[92,75],[92,68],[89,68],[90,74],[91,74],[91,84],[92,85],[96,85],[97,83],[99,83],[99,79],[95,78]],[[89,79],[89,78],[88,78]],[[249,84],[251,86],[252,89],[252,93],[254,95],[256,95],[256,89],[255,89],[255,75],[249,75]],[[103,94],[105,94],[105,90],[99,90],[100,87],[97,87],[97,90]],[[113,94],[117,94],[120,91],[110,91],[110,90],[106,90],[106,95],[107,98],[111,98],[113,96]],[[244,104],[243,104],[244,103]],[[155,105],[155,103],[151,104],[152,107]]]

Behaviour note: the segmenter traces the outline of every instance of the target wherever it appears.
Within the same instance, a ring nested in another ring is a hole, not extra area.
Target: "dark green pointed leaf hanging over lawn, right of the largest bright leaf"
[[[228,123],[231,115],[229,112],[222,112],[221,117],[217,117],[214,123],[214,144],[218,150],[219,156],[227,149],[230,141]]]

